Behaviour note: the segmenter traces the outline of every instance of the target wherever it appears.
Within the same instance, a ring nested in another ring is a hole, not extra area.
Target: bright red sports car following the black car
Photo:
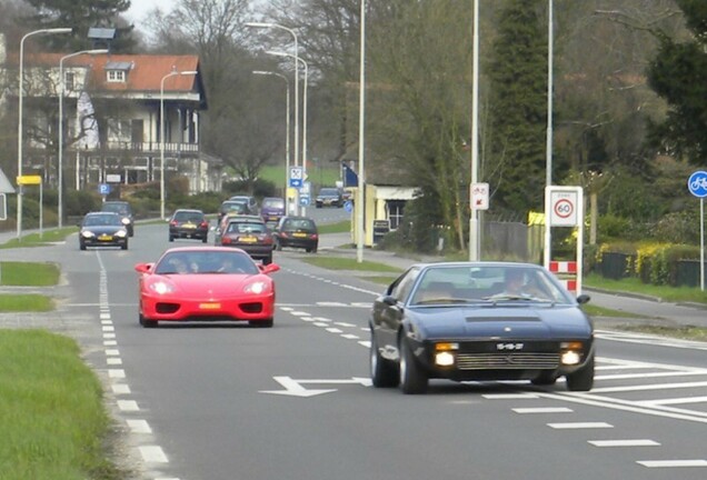
[[[276,263],[256,263],[243,250],[188,247],[138,263],[140,324],[159,321],[248,321],[272,327]]]

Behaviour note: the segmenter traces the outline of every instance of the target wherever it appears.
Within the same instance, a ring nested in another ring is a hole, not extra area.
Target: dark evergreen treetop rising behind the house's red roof
[[[70,34],[46,36],[41,38],[52,51],[79,51],[90,48],[106,48],[104,43],[94,46],[88,38],[90,28],[114,28],[116,37],[110,41],[112,52],[130,52],[136,40],[133,26],[128,24],[120,13],[130,8],[130,0],[26,0],[34,12],[22,18],[30,29],[73,28]]]

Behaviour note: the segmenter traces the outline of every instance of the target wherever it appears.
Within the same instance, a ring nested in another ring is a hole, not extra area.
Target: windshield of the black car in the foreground
[[[542,268],[518,266],[446,266],[424,270],[411,304],[520,301],[568,303]]]

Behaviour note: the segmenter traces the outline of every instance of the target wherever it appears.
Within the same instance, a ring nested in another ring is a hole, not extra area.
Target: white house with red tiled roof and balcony
[[[17,66],[8,56],[10,79]],[[189,193],[220,190],[222,163],[200,149],[208,104],[197,56],[24,52],[22,66],[23,174],[57,184],[61,124],[69,188],[159,181],[163,159],[165,178],[188,178]]]

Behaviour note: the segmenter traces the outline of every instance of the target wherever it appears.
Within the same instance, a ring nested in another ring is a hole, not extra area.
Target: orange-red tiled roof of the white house
[[[66,53],[32,53],[26,56],[24,64],[59,67]],[[108,82],[107,63],[131,64],[126,82]],[[152,56],[152,54],[81,54],[68,58],[63,67],[91,67],[91,82],[112,91],[160,91],[162,78],[171,71],[198,71],[197,56]],[[165,91],[191,91],[196,87],[196,76],[172,76],[165,80]]]

